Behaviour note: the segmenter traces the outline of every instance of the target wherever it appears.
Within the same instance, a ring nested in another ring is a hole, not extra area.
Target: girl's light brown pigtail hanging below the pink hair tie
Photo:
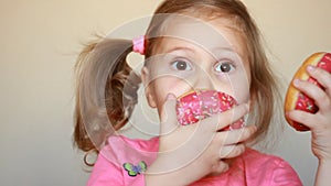
[[[85,152],[98,152],[138,101],[141,80],[126,62],[130,52],[131,41],[99,37],[78,55],[74,141]]]

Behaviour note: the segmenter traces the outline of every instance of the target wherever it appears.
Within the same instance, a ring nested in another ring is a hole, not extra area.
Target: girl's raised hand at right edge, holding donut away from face
[[[307,72],[323,89],[302,80],[295,80],[293,85],[316,101],[319,111],[312,114],[293,110],[287,114],[290,119],[310,128],[313,154],[320,161],[331,162],[331,74],[312,66],[309,66]]]

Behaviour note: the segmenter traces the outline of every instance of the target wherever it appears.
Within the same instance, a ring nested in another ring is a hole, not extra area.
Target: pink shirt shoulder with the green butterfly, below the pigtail
[[[102,149],[87,185],[145,185],[142,173],[154,161],[159,139],[111,135]]]

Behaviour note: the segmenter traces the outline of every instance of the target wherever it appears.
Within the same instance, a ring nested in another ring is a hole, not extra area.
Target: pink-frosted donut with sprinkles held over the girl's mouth
[[[178,121],[182,125],[192,124],[212,114],[226,111],[236,105],[236,100],[225,92],[216,90],[192,91],[184,94],[178,99]],[[241,119],[223,130],[239,129],[243,127],[244,119]]]

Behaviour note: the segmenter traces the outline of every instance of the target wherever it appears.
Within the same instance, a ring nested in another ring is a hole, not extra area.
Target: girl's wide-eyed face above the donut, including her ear
[[[242,33],[227,19],[171,21],[142,68],[146,96],[161,112],[168,94],[177,97],[213,89],[249,101],[250,68]]]

